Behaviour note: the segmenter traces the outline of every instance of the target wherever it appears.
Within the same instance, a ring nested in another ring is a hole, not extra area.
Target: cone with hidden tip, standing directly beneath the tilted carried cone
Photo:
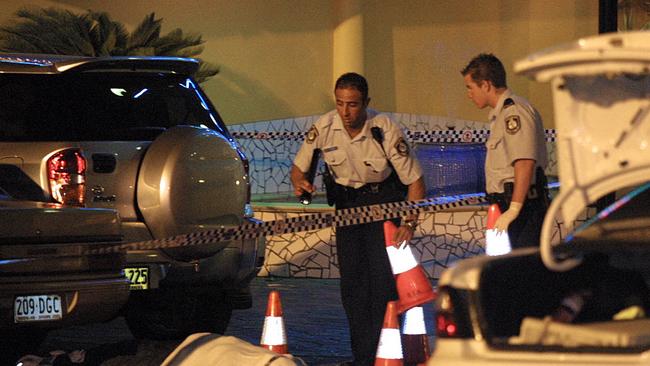
[[[408,365],[424,365],[431,354],[427,327],[424,323],[424,309],[416,306],[404,314],[402,328],[402,348],[404,349],[404,363]]]

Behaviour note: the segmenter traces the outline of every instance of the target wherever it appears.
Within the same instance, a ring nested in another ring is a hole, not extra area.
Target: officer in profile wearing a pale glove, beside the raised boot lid
[[[495,229],[508,231],[513,248],[539,245],[548,191],[542,118],[506,85],[506,72],[492,54],[480,54],[461,71],[468,97],[479,108],[490,107],[486,143],[486,192],[503,214]]]

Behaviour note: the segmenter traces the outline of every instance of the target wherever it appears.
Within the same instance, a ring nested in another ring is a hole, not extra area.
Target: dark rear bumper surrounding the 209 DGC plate
[[[16,296],[27,295],[60,296],[62,319],[15,323]],[[0,329],[60,328],[109,320],[119,313],[128,296],[128,281],[121,273],[0,277]]]

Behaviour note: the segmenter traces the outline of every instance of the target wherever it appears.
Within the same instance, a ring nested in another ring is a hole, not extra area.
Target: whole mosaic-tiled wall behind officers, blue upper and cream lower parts
[[[404,130],[465,130],[487,129],[482,122],[428,115],[388,113]],[[233,132],[304,132],[319,115],[260,121],[231,125]],[[289,171],[293,157],[302,140],[238,139],[251,163],[253,197],[266,200],[272,195],[291,195]],[[417,149],[417,146],[415,146]],[[554,144],[547,144],[549,166],[547,174],[556,175],[557,160]],[[323,191],[319,177],[315,185]],[[465,192],[470,193],[470,192]],[[311,214],[318,209],[303,207],[260,206],[253,202],[255,216],[269,221]],[[323,210],[331,210],[324,208]],[[484,253],[485,207],[464,208],[449,212],[427,213],[420,216],[416,237],[412,241],[414,254],[423,264],[428,276],[437,280],[442,270],[458,259]],[[562,236],[558,224],[555,236]],[[331,228],[267,237],[267,252],[260,276],[338,278],[335,231]]]

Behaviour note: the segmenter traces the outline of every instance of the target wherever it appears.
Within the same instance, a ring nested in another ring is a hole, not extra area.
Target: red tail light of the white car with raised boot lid
[[[439,338],[471,337],[472,330],[466,307],[458,306],[460,305],[458,294],[447,288],[438,291],[435,305],[436,335]]]

